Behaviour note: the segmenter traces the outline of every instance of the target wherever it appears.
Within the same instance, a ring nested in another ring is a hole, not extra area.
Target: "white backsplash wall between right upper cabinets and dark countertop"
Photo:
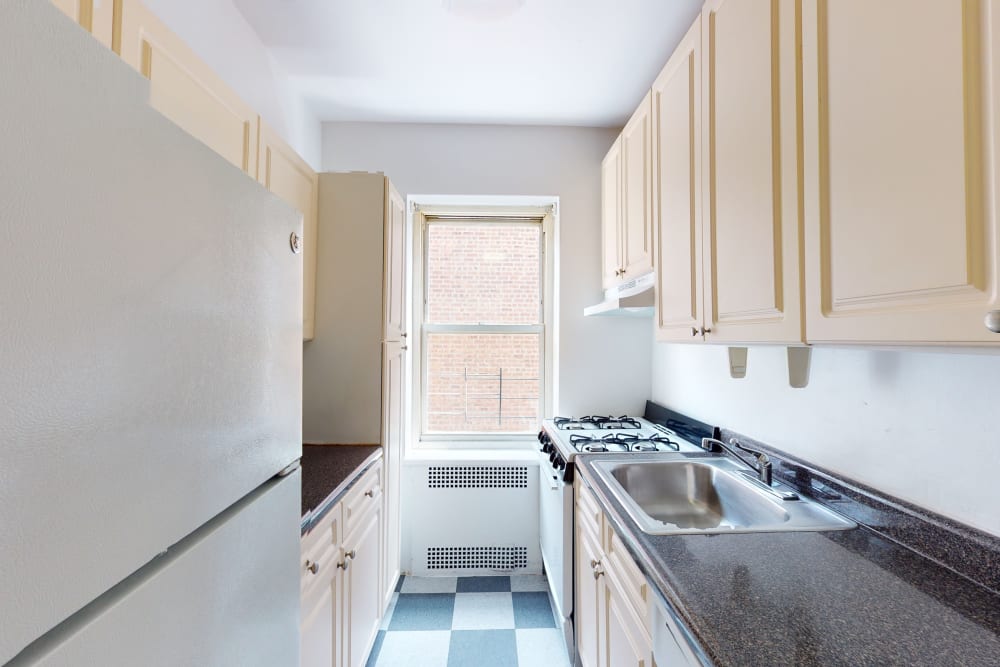
[[[788,386],[784,348],[653,345],[653,399],[1000,535],[1000,354],[819,348]]]

